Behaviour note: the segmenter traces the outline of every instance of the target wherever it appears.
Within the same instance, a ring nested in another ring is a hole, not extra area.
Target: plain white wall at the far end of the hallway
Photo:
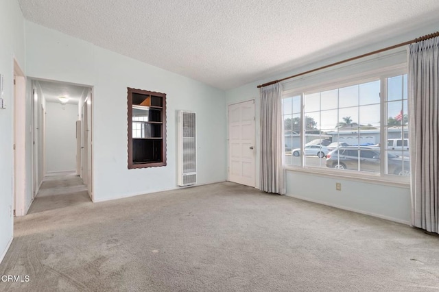
[[[46,173],[75,171],[78,105],[46,104]]]

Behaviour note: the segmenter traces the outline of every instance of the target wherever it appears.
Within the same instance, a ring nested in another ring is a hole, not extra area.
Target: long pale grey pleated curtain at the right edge
[[[409,48],[412,225],[439,233],[439,38]]]

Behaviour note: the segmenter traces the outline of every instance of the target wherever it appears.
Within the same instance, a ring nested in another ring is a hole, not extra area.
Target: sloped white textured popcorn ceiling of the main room
[[[229,89],[437,21],[438,0],[19,0],[29,21]]]

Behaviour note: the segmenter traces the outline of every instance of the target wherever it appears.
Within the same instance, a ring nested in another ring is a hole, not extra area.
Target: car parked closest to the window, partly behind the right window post
[[[348,146],[335,149],[327,155],[327,167],[379,172],[380,149],[377,147]],[[388,173],[410,175],[410,161],[407,157],[388,153]]]

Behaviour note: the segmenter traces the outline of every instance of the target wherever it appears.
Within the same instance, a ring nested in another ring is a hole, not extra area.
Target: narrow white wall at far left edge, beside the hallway
[[[12,208],[12,144],[13,144],[13,58],[25,70],[24,20],[17,1],[0,2],[0,74],[4,78],[3,99],[6,109],[0,109],[0,261],[13,232]]]

